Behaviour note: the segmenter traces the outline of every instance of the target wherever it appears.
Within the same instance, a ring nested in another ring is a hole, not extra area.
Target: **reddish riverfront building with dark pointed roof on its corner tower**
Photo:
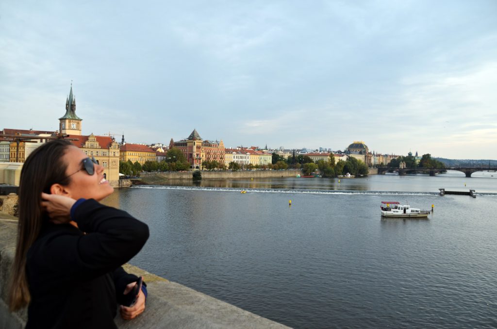
[[[225,163],[225,148],[223,140],[209,141],[202,140],[196,129],[193,129],[188,138],[174,142],[171,138],[169,150],[171,148],[180,149],[191,169],[202,169],[202,162],[217,161]]]

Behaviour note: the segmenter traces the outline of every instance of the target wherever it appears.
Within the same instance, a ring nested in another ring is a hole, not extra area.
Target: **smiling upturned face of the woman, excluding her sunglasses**
[[[67,196],[78,200],[80,198],[100,201],[114,192],[109,181],[103,178],[103,167],[94,164],[95,172],[89,175],[83,169],[82,161],[88,156],[76,146],[70,146],[64,155],[67,164],[66,175],[71,175],[70,182],[64,186]],[[79,170],[79,171],[78,171]]]

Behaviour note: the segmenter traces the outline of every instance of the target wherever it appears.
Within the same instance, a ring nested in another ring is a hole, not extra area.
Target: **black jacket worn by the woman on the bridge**
[[[79,229],[45,224],[28,250],[27,329],[116,328],[118,299],[137,280],[121,265],[147,241],[146,224],[92,199],[77,206],[72,220]]]

